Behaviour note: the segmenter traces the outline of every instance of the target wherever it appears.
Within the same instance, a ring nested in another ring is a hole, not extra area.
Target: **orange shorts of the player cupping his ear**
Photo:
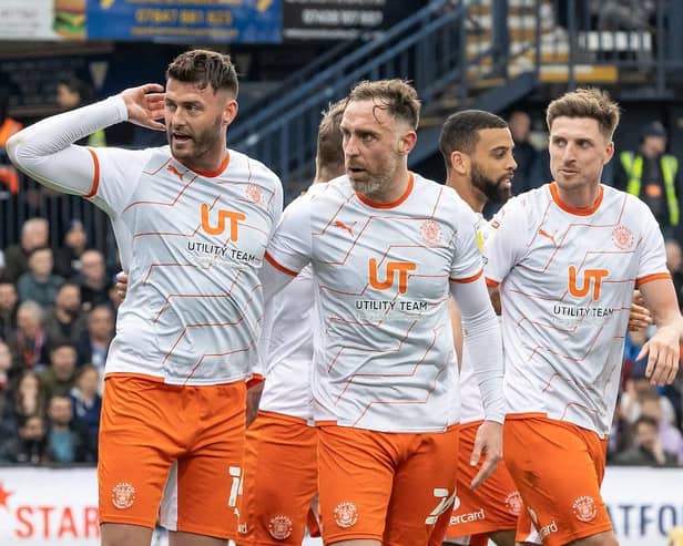
[[[244,382],[170,385],[111,374],[104,382],[100,523],[234,538],[242,480]],[[162,502],[163,495],[163,502]]]

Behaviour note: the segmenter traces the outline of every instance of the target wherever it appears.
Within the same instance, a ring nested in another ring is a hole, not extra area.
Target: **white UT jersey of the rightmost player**
[[[633,288],[669,277],[656,220],[612,187],[575,209],[550,184],[511,199],[491,226],[487,278],[500,284],[507,412],[604,436]]]

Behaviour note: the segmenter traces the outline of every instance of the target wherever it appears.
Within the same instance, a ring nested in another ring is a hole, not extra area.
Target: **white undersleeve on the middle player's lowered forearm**
[[[502,337],[486,285],[470,282],[456,286],[451,291],[460,309],[465,343],[472,356],[486,419],[502,423]]]

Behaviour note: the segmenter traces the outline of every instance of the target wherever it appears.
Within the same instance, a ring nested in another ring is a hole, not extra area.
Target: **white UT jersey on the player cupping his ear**
[[[277,176],[234,151],[215,173],[187,169],[167,146],[92,154],[92,199],[112,219],[129,272],[106,373],[246,379],[263,315],[257,274],[282,212]]]

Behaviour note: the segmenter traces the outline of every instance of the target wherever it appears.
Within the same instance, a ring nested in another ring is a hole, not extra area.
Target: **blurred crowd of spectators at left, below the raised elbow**
[[[94,463],[118,300],[79,220],[23,224],[0,262],[0,463]]]

